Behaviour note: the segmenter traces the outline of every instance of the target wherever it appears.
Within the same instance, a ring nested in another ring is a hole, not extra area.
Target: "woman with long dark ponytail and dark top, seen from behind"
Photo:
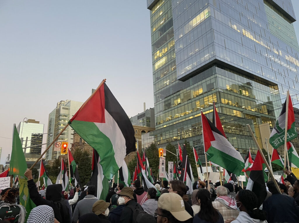
[[[212,205],[208,190],[200,189],[197,199],[200,201],[200,210],[194,216],[193,223],[224,223],[222,215]]]

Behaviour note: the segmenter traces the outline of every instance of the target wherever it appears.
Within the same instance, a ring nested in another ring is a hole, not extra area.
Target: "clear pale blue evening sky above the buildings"
[[[84,102],[104,78],[129,116],[154,106],[145,0],[1,0],[0,32],[1,164],[13,123],[39,120],[47,132],[57,102]]]

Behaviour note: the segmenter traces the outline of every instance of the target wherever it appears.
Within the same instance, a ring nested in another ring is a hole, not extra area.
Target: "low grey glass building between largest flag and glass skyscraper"
[[[155,109],[149,108],[133,117],[130,117],[133,126],[155,128]]]

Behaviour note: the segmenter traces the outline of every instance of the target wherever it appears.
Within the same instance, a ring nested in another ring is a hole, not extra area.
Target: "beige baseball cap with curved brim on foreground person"
[[[173,217],[183,222],[192,216],[185,210],[183,198],[176,193],[164,193],[158,200],[158,207],[169,211]]]

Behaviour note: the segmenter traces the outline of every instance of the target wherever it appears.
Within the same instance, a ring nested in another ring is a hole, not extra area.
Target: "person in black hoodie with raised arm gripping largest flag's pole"
[[[48,205],[53,208],[54,216],[60,223],[71,222],[71,207],[68,201],[62,199],[62,185],[61,184],[51,184],[48,185],[46,191],[46,199],[38,193],[37,188],[33,182],[32,171],[27,169],[25,172],[25,177],[28,179],[28,190],[29,197],[34,202],[36,206]]]

